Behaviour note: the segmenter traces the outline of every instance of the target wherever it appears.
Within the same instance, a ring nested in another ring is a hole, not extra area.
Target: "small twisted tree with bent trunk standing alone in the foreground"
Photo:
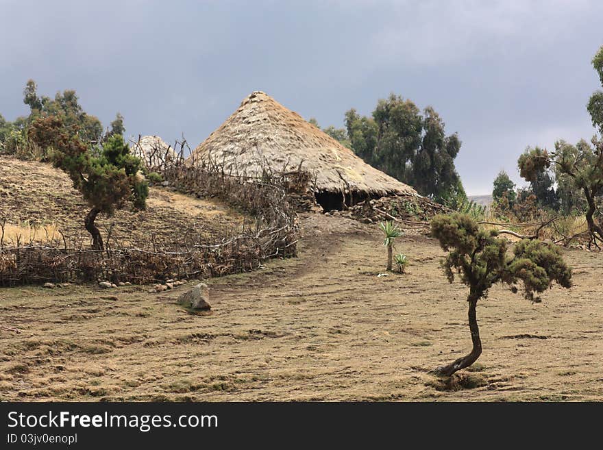
[[[473,349],[447,366],[434,370],[439,375],[450,376],[471,366],[482,353],[480,329],[476,318],[479,299],[486,298],[488,290],[497,282],[510,286],[517,292],[521,282],[524,297],[534,301],[534,292],[543,292],[557,282],[564,288],[571,286],[571,269],[561,257],[561,251],[539,240],[524,239],[517,242],[513,256],[507,254],[507,241],[497,237],[497,232],[487,231],[466,214],[436,216],[431,223],[432,236],[448,251],[442,266],[452,283],[455,273],[469,286],[469,329]]]

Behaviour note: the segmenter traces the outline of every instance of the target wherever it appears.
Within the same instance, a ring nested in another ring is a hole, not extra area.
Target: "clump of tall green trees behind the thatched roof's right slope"
[[[460,185],[454,158],[461,142],[456,134],[445,135],[433,108],[421,112],[412,101],[392,94],[378,101],[372,118],[347,111],[345,126],[356,155],[421,195],[443,202]]]

